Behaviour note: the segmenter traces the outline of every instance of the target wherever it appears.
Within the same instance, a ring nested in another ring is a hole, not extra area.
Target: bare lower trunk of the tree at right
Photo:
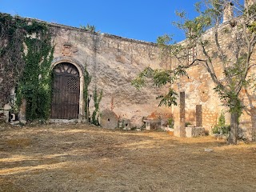
[[[230,136],[228,138],[228,143],[236,145],[238,142],[238,111],[232,111],[230,117]]]

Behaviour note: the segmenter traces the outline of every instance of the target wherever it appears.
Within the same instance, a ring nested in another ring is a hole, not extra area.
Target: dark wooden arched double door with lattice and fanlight
[[[69,62],[54,67],[51,118],[78,119],[80,79],[76,66]]]

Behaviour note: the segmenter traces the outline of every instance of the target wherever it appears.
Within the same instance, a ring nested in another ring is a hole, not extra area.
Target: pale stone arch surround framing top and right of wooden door
[[[74,58],[70,57],[59,57],[54,58],[51,69],[53,70],[55,66],[57,66],[60,63],[70,63],[74,65],[79,73],[79,79],[80,79],[80,94],[79,94],[79,114],[78,114],[78,122],[85,122],[85,102],[83,99],[83,91],[84,91],[84,67],[80,62],[78,62]]]

